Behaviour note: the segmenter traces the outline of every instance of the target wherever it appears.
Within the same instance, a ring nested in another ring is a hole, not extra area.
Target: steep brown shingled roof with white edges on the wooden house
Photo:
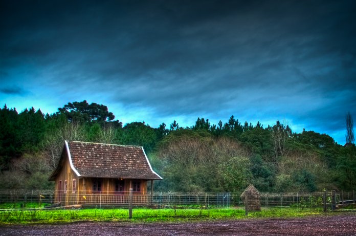
[[[161,180],[153,171],[142,146],[65,141],[61,158],[68,156],[80,177]],[[60,171],[59,162],[50,180]]]

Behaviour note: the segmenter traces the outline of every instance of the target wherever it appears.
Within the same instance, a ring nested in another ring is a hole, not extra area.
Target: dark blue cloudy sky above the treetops
[[[153,127],[197,117],[345,143],[356,119],[356,1],[0,3],[0,101],[107,105]]]

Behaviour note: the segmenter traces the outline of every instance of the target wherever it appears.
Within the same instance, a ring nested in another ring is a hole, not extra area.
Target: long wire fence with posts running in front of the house
[[[134,206],[149,207],[243,207],[242,192],[153,192],[132,196]],[[58,197],[60,196],[60,198]],[[55,192],[53,190],[0,190],[0,209],[38,207],[127,207],[128,192],[100,191],[91,194]],[[251,203],[251,198],[250,198]],[[336,209],[355,204],[355,191],[260,192],[253,200],[260,207],[297,207]]]

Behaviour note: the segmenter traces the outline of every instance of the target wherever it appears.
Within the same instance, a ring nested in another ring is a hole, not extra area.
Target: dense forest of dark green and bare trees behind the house
[[[238,191],[250,183],[260,191],[296,192],[356,189],[353,121],[346,118],[347,144],[314,131],[293,133],[241,123],[231,116],[211,124],[197,118],[190,127],[122,124],[107,106],[87,101],[63,105],[57,113],[34,108],[0,109],[0,189],[54,189],[48,181],[64,140],[141,145],[163,177],[157,191]]]

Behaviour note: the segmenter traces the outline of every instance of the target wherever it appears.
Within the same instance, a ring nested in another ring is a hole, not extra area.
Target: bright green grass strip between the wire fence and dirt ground
[[[213,209],[148,209],[132,210],[128,219],[127,209],[71,209],[71,210],[6,210],[0,211],[0,224],[69,223],[75,221],[139,221],[174,222],[191,220],[233,220],[254,218],[295,218],[324,214],[321,209],[268,208],[250,212],[245,216],[243,208]]]

